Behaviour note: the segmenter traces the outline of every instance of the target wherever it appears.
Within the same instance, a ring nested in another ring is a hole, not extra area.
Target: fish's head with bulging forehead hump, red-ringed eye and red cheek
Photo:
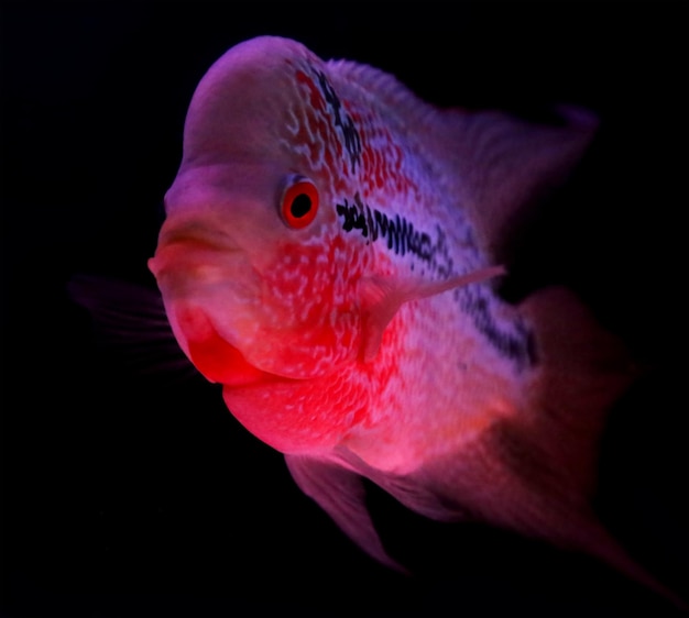
[[[150,268],[179,345],[226,387],[321,377],[360,353],[368,254],[338,225],[347,169],[324,155],[342,146],[318,113],[319,63],[294,42],[245,42],[189,107]]]

